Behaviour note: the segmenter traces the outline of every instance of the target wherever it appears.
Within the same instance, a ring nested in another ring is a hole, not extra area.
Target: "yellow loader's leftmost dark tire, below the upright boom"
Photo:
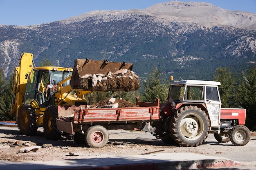
[[[23,105],[18,112],[18,128],[23,135],[35,135],[37,131],[36,113],[29,105]]]

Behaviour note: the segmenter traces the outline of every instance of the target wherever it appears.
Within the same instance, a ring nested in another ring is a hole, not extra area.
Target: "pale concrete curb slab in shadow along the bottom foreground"
[[[0,169],[4,170],[195,170],[232,166],[242,164],[222,157],[180,152],[56,161],[0,161]]]

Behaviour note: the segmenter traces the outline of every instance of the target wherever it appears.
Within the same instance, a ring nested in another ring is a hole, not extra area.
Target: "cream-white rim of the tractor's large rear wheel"
[[[182,119],[180,130],[184,137],[189,140],[195,140],[202,135],[203,126],[202,119],[198,115],[190,114]]]

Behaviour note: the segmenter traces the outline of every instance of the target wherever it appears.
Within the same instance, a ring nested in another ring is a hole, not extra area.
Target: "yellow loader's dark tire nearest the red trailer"
[[[61,131],[57,129],[56,118],[58,118],[57,107],[49,106],[43,116],[43,129],[46,139],[58,140],[61,138]]]

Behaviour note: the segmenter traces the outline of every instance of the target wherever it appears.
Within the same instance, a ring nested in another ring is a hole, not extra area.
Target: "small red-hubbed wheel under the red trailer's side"
[[[85,141],[91,148],[103,148],[108,143],[108,130],[103,126],[91,126],[85,133]]]

